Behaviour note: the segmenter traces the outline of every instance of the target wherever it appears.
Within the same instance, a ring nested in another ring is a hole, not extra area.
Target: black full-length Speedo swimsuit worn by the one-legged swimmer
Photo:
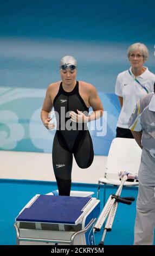
[[[53,105],[57,121],[52,153],[53,168],[59,195],[69,196],[73,154],[80,168],[91,166],[94,158],[87,124],[74,123],[69,117],[69,112],[77,113],[77,109],[88,115],[88,108],[79,94],[79,82],[76,82],[76,86],[69,93],[63,90],[61,82]]]

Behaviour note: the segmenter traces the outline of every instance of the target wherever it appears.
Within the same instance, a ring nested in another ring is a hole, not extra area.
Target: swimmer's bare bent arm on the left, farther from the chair
[[[46,97],[44,98],[42,110],[41,110],[41,120],[43,125],[48,129],[54,129],[54,124],[49,124],[51,118],[49,118],[49,113],[53,108],[53,103],[51,101],[51,86],[47,88]],[[50,127],[51,126],[51,127]]]

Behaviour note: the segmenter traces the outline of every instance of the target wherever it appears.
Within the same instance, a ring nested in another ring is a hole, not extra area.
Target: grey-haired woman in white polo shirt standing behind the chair
[[[128,129],[128,120],[140,97],[154,91],[155,75],[144,66],[148,59],[148,49],[144,44],[137,42],[131,45],[127,57],[131,68],[118,75],[115,85],[115,94],[118,95],[121,105],[116,137],[133,138]]]

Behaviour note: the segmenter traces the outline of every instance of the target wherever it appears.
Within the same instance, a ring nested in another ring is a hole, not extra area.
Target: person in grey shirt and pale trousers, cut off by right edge
[[[155,93],[155,83],[154,83]],[[142,97],[128,122],[142,149],[134,245],[153,245],[155,227],[155,94]]]

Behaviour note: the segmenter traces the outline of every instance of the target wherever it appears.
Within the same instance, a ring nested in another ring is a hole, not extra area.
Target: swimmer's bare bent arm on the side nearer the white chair
[[[93,108],[93,112],[91,113],[91,115],[88,115],[88,121],[93,121],[101,118],[104,114],[104,107],[102,106],[101,99],[94,86],[91,86],[89,90],[89,104]]]

